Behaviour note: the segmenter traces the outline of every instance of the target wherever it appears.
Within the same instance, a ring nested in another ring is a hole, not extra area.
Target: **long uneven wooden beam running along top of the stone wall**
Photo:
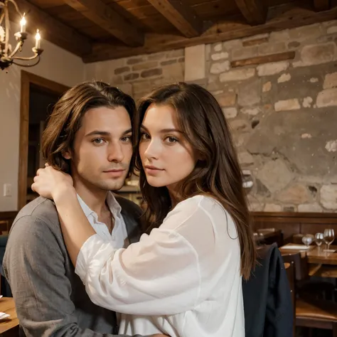
[[[112,60],[134,55],[157,53],[164,50],[185,48],[203,43],[215,43],[228,41],[235,38],[244,38],[272,31],[281,31],[287,28],[305,26],[312,23],[330,21],[337,16],[337,8],[329,11],[316,13],[312,9],[304,9],[289,4],[269,10],[269,20],[260,26],[250,26],[247,23],[235,21],[216,23],[196,38],[183,38],[182,36],[148,34],[144,46],[139,48],[127,48],[123,46],[112,46],[108,43],[95,43],[92,54],[86,55],[85,63],[101,60]]]

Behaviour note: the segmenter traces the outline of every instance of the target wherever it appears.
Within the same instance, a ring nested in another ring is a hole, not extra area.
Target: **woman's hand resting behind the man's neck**
[[[57,171],[46,164],[44,169],[38,169],[31,189],[48,199],[62,198],[73,188],[73,178],[67,173]]]

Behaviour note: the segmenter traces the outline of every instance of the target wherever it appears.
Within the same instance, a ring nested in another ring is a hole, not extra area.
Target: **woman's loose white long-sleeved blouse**
[[[123,314],[119,333],[245,336],[237,230],[213,198],[178,203],[127,249],[93,235],[75,272],[95,304]]]

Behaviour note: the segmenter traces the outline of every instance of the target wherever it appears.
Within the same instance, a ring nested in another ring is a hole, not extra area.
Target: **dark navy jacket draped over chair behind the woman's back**
[[[246,337],[290,337],[293,308],[287,273],[277,245],[257,250],[257,267],[242,281]]]

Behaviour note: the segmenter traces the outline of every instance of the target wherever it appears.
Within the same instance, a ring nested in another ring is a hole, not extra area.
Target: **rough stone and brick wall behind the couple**
[[[200,83],[223,108],[242,169],[252,174],[252,210],[331,212],[337,210],[336,43],[337,21],[330,21],[95,63],[87,65],[87,78],[98,76],[136,99],[167,82]],[[237,66],[242,60],[250,65]]]

